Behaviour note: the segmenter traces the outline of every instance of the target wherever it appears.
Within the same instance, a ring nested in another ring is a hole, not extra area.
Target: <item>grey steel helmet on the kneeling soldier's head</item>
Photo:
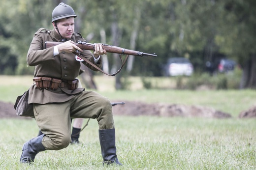
[[[52,22],[67,18],[67,17],[77,17],[73,8],[63,2],[56,6],[52,13]]]

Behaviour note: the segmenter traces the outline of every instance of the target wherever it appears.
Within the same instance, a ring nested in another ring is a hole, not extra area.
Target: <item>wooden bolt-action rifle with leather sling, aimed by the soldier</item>
[[[46,41],[45,42],[45,48],[50,48],[50,47],[59,45],[61,43],[63,43],[63,42]],[[80,49],[82,49],[82,50],[91,50],[91,51],[95,50],[95,44],[88,43],[86,41],[78,41],[78,43],[75,43],[75,45],[77,47],[79,47]],[[99,67],[97,67],[94,63],[89,61],[87,58],[85,58],[82,55],[80,55],[80,53],[78,51],[73,52],[73,53],[76,56],[81,57],[83,60],[85,60],[89,64],[91,64],[93,67],[95,67],[100,72],[102,72],[102,73],[104,73],[104,74],[106,74],[108,76],[115,76],[117,73],[119,73],[121,71],[121,69],[123,68],[123,66],[125,65],[129,55],[131,55],[131,56],[139,56],[139,57],[143,57],[143,56],[157,57],[157,55],[155,53],[154,54],[148,54],[148,53],[143,53],[143,52],[134,51],[134,50],[128,50],[128,49],[125,49],[125,48],[121,48],[121,47],[117,47],[117,46],[113,46],[113,45],[108,45],[108,44],[101,44],[101,45],[102,45],[102,48],[104,50],[106,50],[106,52],[119,54],[119,57],[120,57],[120,59],[122,61],[122,65],[121,65],[121,68],[116,73],[107,74],[103,70],[101,70]],[[121,55],[127,55],[124,61],[123,61]]]

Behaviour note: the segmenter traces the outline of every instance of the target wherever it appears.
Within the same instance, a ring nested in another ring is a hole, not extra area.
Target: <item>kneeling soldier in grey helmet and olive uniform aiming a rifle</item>
[[[103,165],[122,165],[116,155],[115,125],[110,101],[93,91],[77,88],[80,64],[83,59],[72,52],[78,50],[97,66],[102,65],[101,55],[106,54],[100,44],[92,53],[74,45],[85,41],[80,33],[74,33],[74,10],[60,3],[52,12],[52,30],[40,28],[30,45],[27,62],[35,66],[34,84],[29,89],[29,104],[33,104],[35,121],[43,133],[25,142],[20,161],[31,163],[37,153],[44,150],[60,150],[71,142],[71,118],[94,118],[98,122],[99,142]],[[45,49],[46,41],[65,41]]]

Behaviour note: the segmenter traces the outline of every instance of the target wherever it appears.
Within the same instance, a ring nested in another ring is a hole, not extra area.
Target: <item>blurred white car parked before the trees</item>
[[[193,74],[193,65],[188,58],[172,57],[169,58],[166,65],[167,76],[191,76]]]

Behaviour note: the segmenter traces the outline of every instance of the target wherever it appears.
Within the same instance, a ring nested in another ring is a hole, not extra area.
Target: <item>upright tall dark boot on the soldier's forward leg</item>
[[[115,129],[98,130],[103,165],[117,164],[122,166],[116,155]]]

